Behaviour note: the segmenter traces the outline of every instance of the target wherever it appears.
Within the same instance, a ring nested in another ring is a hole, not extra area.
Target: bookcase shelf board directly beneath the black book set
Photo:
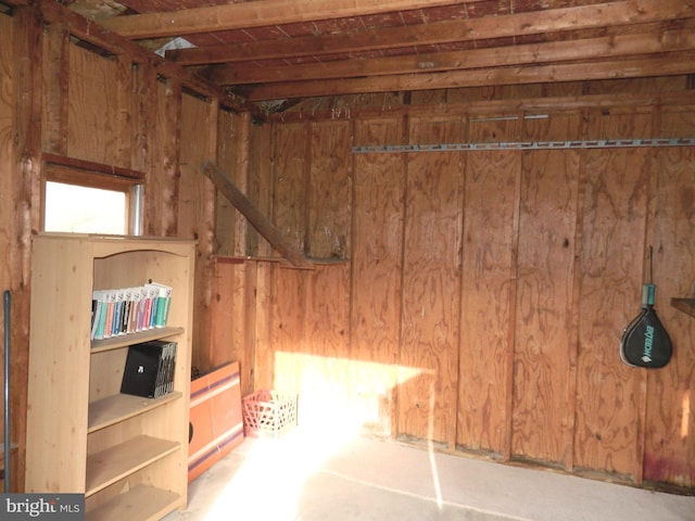
[[[130,394],[115,394],[89,404],[87,432],[94,432],[156,407],[179,399],[182,394],[174,391],[159,398],[143,398]]]

